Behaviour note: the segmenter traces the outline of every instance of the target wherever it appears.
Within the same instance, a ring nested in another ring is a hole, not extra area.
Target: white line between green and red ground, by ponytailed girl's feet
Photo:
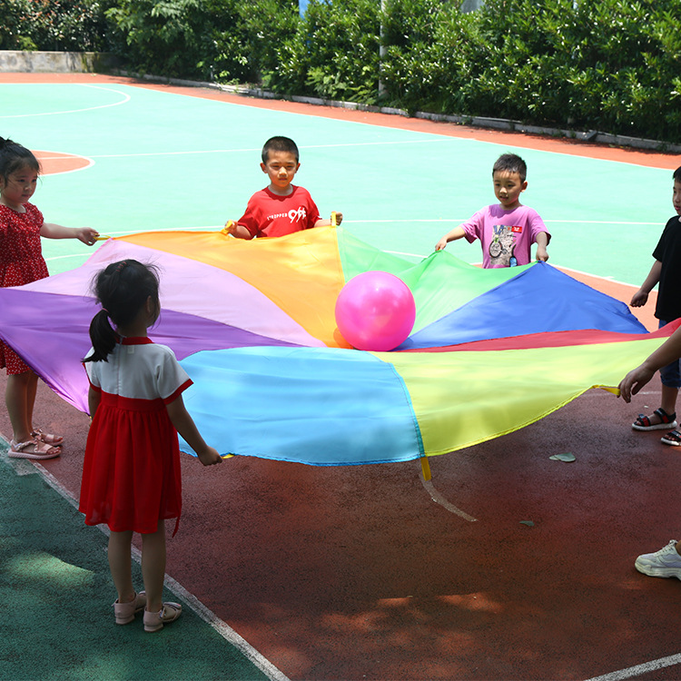
[[[4,438],[3,438],[4,439]],[[6,440],[5,440],[6,441]],[[26,463],[30,463],[35,467],[35,472],[41,475],[44,481],[56,492],[58,492],[66,501],[71,504],[74,508],[78,508],[78,502],[74,495],[59,482],[58,479],[54,478],[54,475],[50,473],[49,470],[45,469],[44,466],[37,461],[28,461],[27,459],[7,459],[11,464],[20,464],[17,468],[25,468]],[[13,466],[15,468],[15,466]],[[16,469],[16,468],[15,468]],[[26,471],[22,470],[19,475],[26,475]],[[109,529],[97,525],[104,535],[109,536]],[[140,550],[136,547],[132,547],[133,558],[140,563],[142,560],[142,554]],[[165,575],[164,578],[165,585],[175,594],[181,597],[187,606],[204,622],[209,624],[215,631],[222,636],[228,643],[232,644],[237,648],[244,657],[246,657],[253,666],[257,666],[262,673],[271,679],[271,681],[290,681],[289,677],[286,676],[280,669],[272,665],[270,660],[265,656],[262,656],[245,638],[237,634],[232,627],[230,627],[226,622],[224,622],[220,617],[217,617],[211,610],[205,607],[202,602],[197,598],[192,596],[192,594],[187,591],[179,582],[177,582],[173,577]]]

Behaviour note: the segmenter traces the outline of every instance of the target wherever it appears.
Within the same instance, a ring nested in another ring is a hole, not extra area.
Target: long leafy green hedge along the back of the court
[[[384,5],[311,0],[301,19],[297,0],[0,0],[0,47],[80,36],[151,74],[681,142],[681,0]]]

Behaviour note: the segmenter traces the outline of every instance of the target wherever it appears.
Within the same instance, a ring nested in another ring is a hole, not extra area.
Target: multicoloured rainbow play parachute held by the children
[[[124,258],[159,267],[150,336],[192,377],[184,399],[204,438],[237,455],[334,466],[461,449],[617,385],[670,333],[544,262],[480,270],[436,252],[414,265],[340,227],[252,242],[146,232],[0,290],[0,337],[79,410],[90,282]],[[391,352],[352,350],[336,328],[341,288],[370,270],[398,275],[416,301],[414,331]]]

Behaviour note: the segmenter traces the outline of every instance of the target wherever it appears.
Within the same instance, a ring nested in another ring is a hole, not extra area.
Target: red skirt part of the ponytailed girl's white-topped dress
[[[177,431],[163,400],[102,392],[87,437],[79,509],[87,525],[151,534],[180,518]],[[175,526],[175,531],[177,525]]]

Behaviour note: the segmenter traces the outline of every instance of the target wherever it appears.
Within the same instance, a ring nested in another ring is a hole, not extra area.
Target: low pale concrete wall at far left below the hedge
[[[99,52],[22,52],[0,50],[0,72],[23,74],[102,73],[117,65],[113,54]]]

